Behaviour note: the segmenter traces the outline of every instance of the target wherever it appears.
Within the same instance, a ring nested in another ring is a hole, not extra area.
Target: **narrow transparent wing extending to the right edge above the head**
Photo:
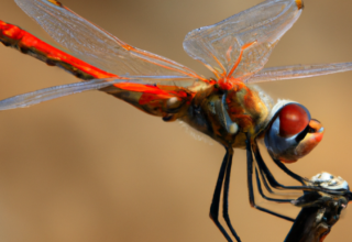
[[[279,66],[262,69],[251,79],[249,79],[248,82],[255,84],[273,80],[316,77],[334,73],[343,73],[348,70],[352,70],[352,63]]]

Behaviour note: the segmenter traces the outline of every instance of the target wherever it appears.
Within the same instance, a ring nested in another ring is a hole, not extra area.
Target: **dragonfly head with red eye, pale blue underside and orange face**
[[[322,139],[321,123],[310,118],[309,111],[297,102],[274,107],[264,142],[275,160],[293,163],[307,155]]]

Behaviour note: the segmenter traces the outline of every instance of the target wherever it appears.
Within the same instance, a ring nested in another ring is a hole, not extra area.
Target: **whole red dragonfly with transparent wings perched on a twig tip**
[[[209,68],[215,78],[205,78],[182,64],[133,47],[58,1],[15,2],[64,51],[3,21],[0,22],[0,41],[48,65],[58,66],[85,81],[4,99],[0,101],[1,110],[100,90],[143,112],[160,117],[165,122],[184,121],[226,148],[210,218],[228,241],[232,239],[219,222],[221,191],[226,223],[232,237],[241,241],[228,213],[233,148],[246,150],[249,198],[251,206],[258,210],[293,221],[255,204],[253,179],[257,187],[262,183],[270,193],[273,188],[319,190],[307,187],[305,178],[289,170],[284,163],[304,157],[321,141],[321,123],[310,117],[306,107],[285,100],[274,103],[253,86],[262,81],[351,70],[352,63],[263,68],[279,38],[301,14],[302,1],[265,1],[217,24],[187,34],[184,41],[186,53]],[[261,156],[257,145],[260,140],[264,140],[274,163],[302,186],[284,186],[277,183]],[[253,169],[256,170],[255,175]],[[289,199],[262,196],[277,202],[290,202]]]

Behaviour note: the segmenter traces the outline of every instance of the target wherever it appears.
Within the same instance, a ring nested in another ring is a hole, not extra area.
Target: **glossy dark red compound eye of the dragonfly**
[[[279,112],[279,135],[289,138],[306,129],[309,116],[299,105],[287,105]]]

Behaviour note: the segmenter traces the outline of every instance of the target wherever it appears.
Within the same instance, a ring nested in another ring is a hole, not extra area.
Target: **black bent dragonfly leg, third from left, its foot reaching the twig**
[[[249,186],[249,197],[250,197],[250,204],[253,208],[270,213],[272,216],[276,216],[278,218],[285,219],[287,221],[295,221],[294,219],[283,216],[280,213],[271,211],[266,208],[262,208],[257,205],[255,205],[255,199],[254,199],[254,193],[253,193],[253,155],[252,155],[252,150],[251,150],[251,142],[250,140],[246,141],[246,161],[248,161],[248,186]],[[260,180],[256,180],[260,183]]]

